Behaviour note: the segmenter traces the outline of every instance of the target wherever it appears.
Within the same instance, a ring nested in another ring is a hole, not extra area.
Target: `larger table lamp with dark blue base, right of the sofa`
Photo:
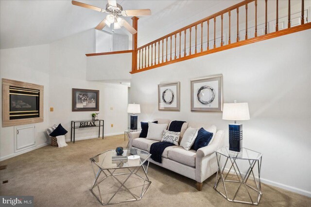
[[[232,120],[229,124],[229,150],[240,152],[243,141],[242,124],[237,121],[249,120],[248,103],[225,103],[223,108],[223,119]]]

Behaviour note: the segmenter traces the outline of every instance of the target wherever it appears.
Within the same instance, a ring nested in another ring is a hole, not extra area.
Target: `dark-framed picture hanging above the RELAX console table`
[[[99,111],[99,91],[73,88],[72,111]]]

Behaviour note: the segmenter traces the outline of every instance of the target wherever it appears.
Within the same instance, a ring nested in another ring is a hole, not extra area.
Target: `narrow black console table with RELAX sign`
[[[79,123],[78,125],[76,123]],[[70,142],[72,141],[72,129],[73,129],[73,143],[75,140],[75,129],[76,128],[88,128],[88,127],[98,127],[98,137],[100,137],[101,127],[103,127],[103,139],[104,139],[104,120],[76,120],[71,121],[71,134],[70,134]]]

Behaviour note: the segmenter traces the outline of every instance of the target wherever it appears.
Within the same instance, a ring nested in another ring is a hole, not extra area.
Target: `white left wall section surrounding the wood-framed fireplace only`
[[[49,45],[0,50],[1,79],[19,80],[44,86],[44,121],[35,124],[38,147],[48,141],[44,130],[49,126],[49,51]],[[2,81],[0,88],[2,88]],[[2,93],[0,96],[2,98]],[[2,108],[2,104],[0,105]],[[2,117],[2,109],[0,113]],[[14,155],[14,127],[2,127],[2,118],[0,125],[0,159],[9,158]]]

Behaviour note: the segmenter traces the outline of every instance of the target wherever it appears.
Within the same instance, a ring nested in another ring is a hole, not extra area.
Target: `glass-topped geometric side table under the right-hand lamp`
[[[262,195],[260,186],[262,154],[244,147],[241,152],[229,151],[229,147],[221,147],[215,152],[218,171],[214,189],[228,201],[258,205]],[[226,166],[229,170],[225,168]],[[245,172],[242,168],[245,168]],[[227,173],[224,172],[225,170]],[[242,199],[249,201],[242,201]]]

